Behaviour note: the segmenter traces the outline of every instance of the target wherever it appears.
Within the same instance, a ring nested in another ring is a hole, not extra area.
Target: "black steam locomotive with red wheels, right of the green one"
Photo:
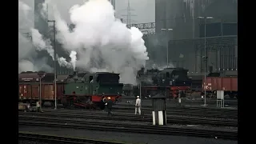
[[[142,96],[166,94],[167,98],[177,98],[182,92],[185,96],[191,88],[191,79],[188,77],[188,70],[183,68],[166,68],[164,70],[138,71],[138,81],[141,83]]]

